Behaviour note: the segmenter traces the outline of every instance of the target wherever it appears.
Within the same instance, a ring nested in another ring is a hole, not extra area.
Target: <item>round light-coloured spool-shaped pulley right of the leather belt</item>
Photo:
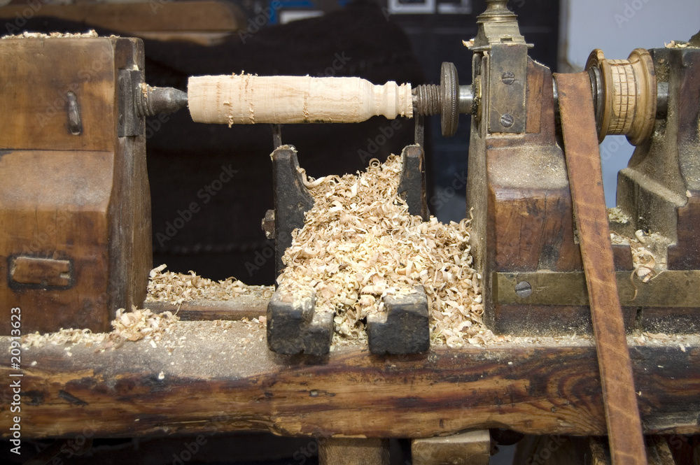
[[[627,59],[605,59],[596,48],[586,69],[596,96],[598,141],[623,134],[638,145],[649,138],[657,115],[657,79],[649,52],[637,48]]]

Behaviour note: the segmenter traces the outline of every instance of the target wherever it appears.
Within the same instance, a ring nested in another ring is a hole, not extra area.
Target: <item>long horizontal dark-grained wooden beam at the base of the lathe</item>
[[[95,437],[241,429],[404,438],[486,427],[605,432],[590,339],[393,357],[351,346],[314,359],[269,352],[265,329],[250,326],[180,322],[158,348],[146,340],[104,352],[95,345],[27,348],[22,438],[71,436],[86,426]],[[0,338],[0,347],[9,343]],[[630,352],[645,431],[700,432],[700,338],[633,345]],[[0,361],[5,380],[17,373],[9,363]],[[0,394],[7,437],[14,415],[9,383]]]

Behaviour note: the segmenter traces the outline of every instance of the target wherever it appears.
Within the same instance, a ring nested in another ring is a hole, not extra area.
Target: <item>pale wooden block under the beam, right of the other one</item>
[[[414,439],[411,457],[413,465],[489,465],[491,435],[488,429],[479,429],[454,436]]]

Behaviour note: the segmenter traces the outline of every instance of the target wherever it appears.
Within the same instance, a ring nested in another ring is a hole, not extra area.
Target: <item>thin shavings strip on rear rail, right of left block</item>
[[[217,282],[197,276],[194,271],[190,271],[188,275],[164,272],[166,267],[160,265],[151,270],[146,302],[170,302],[179,308],[183,302],[193,300],[230,300],[235,296],[253,292],[267,297],[272,295],[273,289],[269,286],[248,286],[235,278]]]

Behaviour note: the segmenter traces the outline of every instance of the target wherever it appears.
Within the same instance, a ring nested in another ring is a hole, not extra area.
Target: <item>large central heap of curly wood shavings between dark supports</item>
[[[483,324],[480,279],[472,268],[469,221],[442,224],[408,213],[398,195],[401,159],[370,162],[358,176],[304,180],[315,205],[293,232],[277,282],[316,307],[335,310],[336,343],[366,338],[363,319],[383,310],[381,297],[422,285],[431,341],[460,347],[496,340]],[[305,178],[304,173],[304,178]]]

